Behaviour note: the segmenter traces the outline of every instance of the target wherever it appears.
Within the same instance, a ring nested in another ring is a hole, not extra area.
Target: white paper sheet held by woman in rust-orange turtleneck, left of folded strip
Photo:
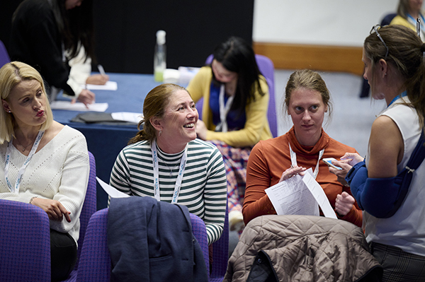
[[[319,216],[317,201],[300,175],[273,185],[266,194],[278,215]]]

